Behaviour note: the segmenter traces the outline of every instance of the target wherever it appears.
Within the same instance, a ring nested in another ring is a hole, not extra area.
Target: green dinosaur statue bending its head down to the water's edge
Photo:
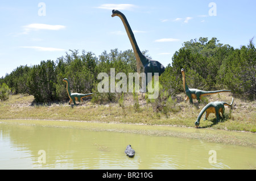
[[[234,98],[232,98],[232,103],[228,104],[225,102],[220,102],[220,101],[215,101],[215,102],[210,102],[209,104],[207,104],[207,106],[205,106],[199,113],[197,120],[195,122],[196,128],[199,127],[200,124],[200,119],[203,116],[204,112],[205,112],[205,116],[204,116],[204,121],[207,120],[207,117],[209,116],[209,113],[214,113],[216,115],[216,120],[217,122],[220,121],[220,112],[222,114],[222,117],[224,117],[224,112],[225,112],[225,107],[224,106],[230,106],[232,107],[232,104],[234,102]]]

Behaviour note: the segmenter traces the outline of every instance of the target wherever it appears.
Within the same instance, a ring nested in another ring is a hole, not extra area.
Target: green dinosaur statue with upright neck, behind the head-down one
[[[230,90],[217,90],[217,91],[203,91],[199,89],[189,89],[185,80],[185,71],[184,69],[181,69],[182,74],[182,81],[183,81],[183,87],[185,90],[185,93],[187,95],[187,98],[185,101],[189,99],[190,103],[193,103],[193,99],[197,99],[198,103],[201,102],[201,96],[210,95],[210,94],[218,94],[221,92],[230,92]]]

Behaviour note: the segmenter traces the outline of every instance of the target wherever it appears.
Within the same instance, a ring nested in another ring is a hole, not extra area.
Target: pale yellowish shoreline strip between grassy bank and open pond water
[[[148,136],[171,136],[186,139],[203,140],[224,145],[249,146],[256,148],[256,134],[245,131],[226,131],[210,128],[179,127],[174,125],[148,125],[134,123],[81,121],[81,120],[47,120],[47,119],[0,119],[0,123],[27,126],[60,127],[86,129],[88,131],[112,131]]]

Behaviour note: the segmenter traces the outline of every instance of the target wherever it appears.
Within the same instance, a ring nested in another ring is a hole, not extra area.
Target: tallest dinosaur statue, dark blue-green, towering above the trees
[[[151,60],[150,58],[147,58],[141,53],[141,50],[139,50],[137,41],[135,40],[133,31],[131,30],[131,27],[125,17],[125,15],[122,14],[122,12],[118,10],[112,11],[112,17],[118,16],[121,18],[123,25],[125,26],[126,33],[129,37],[129,40],[131,42],[131,47],[133,47],[133,51],[135,54],[136,62],[137,62],[137,72],[141,73],[141,68],[143,68],[144,73],[146,73],[146,81],[147,81],[147,73],[152,73],[152,76],[154,76],[154,73],[162,74],[164,72],[164,66],[160,64],[160,62]]]

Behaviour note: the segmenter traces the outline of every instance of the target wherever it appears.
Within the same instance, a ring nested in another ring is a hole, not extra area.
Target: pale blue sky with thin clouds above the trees
[[[113,9],[126,15],[139,48],[167,66],[191,39],[217,37],[234,48],[249,44],[256,35],[255,7],[254,0],[1,1],[0,77],[20,65],[56,61],[69,49],[96,56],[131,49]]]

